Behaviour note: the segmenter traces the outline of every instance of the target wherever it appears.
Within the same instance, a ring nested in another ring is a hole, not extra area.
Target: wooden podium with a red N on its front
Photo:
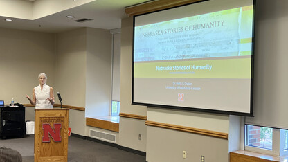
[[[69,109],[35,109],[34,161],[67,161]]]

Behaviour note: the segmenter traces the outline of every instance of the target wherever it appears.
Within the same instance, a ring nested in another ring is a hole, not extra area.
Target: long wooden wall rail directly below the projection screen
[[[149,126],[154,126],[154,127],[162,127],[162,128],[167,128],[167,129],[173,129],[173,130],[178,130],[182,132],[189,132],[193,134],[201,134],[201,135],[206,135],[206,136],[213,136],[217,138],[224,138],[228,140],[228,134],[227,133],[222,133],[222,132],[215,132],[215,131],[210,131],[206,129],[198,129],[198,128],[193,128],[193,127],[183,127],[180,125],[171,125],[171,124],[166,124],[166,123],[159,123],[159,122],[154,122],[154,121],[146,121],[146,125]]]

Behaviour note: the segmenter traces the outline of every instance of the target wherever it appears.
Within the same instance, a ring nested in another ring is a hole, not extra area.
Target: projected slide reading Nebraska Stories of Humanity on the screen
[[[251,114],[253,3],[147,17],[134,17],[134,103]]]

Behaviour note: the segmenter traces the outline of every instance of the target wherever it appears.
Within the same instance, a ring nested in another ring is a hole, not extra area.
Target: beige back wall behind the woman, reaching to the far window
[[[39,73],[48,75],[55,102],[85,107],[70,110],[72,132],[86,136],[85,114],[108,116],[111,99],[111,34],[109,30],[79,28],[49,34],[0,28],[0,100],[28,104]],[[86,97],[89,95],[89,97]],[[87,101],[87,102],[86,102]],[[26,108],[26,120],[34,120]]]

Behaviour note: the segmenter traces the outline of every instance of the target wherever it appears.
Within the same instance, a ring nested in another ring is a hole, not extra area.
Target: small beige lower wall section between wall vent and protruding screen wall
[[[146,127],[145,120],[120,117],[119,145],[146,152]],[[141,140],[138,139],[139,134]]]

